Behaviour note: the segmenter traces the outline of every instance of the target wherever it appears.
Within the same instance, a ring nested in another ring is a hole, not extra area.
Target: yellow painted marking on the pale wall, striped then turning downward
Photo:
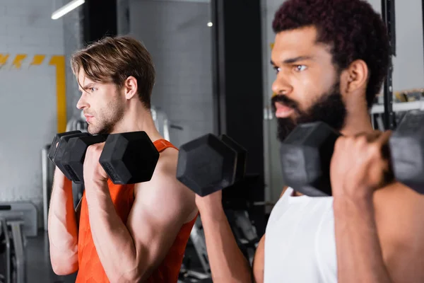
[[[16,54],[12,61],[12,67],[20,69],[27,54]],[[0,68],[7,64],[9,54],[0,53]],[[45,62],[45,54],[35,54],[30,66],[40,66]],[[64,55],[54,55],[49,61],[50,66],[56,67],[56,96],[57,96],[57,132],[66,131],[66,74]]]

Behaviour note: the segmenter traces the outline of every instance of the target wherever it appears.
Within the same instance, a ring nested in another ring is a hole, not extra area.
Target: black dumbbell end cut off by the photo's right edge
[[[408,111],[389,139],[394,178],[420,194],[424,193],[423,125],[423,111]]]

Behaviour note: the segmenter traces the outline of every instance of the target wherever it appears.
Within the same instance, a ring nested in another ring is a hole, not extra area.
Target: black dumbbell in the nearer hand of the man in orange
[[[124,132],[70,137],[63,154],[65,175],[83,183],[83,164],[88,146],[105,141],[99,162],[114,184],[134,184],[151,180],[159,152],[146,132]]]

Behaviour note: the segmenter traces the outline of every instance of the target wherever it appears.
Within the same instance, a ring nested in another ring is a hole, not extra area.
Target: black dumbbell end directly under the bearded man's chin
[[[330,162],[338,137],[324,122],[295,127],[280,147],[284,183],[310,197],[331,195]]]

